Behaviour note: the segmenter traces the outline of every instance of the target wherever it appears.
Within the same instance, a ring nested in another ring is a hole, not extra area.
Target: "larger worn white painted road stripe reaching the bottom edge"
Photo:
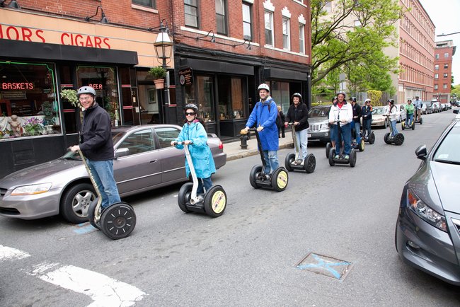
[[[49,270],[53,271],[47,272]],[[45,282],[64,289],[90,296],[93,299],[93,303],[89,305],[91,307],[132,306],[147,295],[135,286],[73,265],[59,267],[58,263],[45,262],[36,265],[29,274],[38,275]]]

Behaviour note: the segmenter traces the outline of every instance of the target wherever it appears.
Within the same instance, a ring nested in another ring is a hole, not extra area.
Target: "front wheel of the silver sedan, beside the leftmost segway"
[[[80,224],[88,221],[88,208],[96,199],[93,185],[79,183],[70,187],[61,199],[59,212],[67,221]]]

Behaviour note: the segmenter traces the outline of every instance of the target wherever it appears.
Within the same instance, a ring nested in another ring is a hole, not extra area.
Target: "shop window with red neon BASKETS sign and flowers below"
[[[0,62],[0,139],[62,133],[53,64]]]

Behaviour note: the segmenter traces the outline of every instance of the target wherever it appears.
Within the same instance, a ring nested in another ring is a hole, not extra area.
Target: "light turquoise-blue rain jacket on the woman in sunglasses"
[[[195,167],[197,178],[209,178],[213,173],[216,173],[216,165],[214,158],[212,158],[211,149],[207,146],[207,133],[205,127],[197,120],[191,124],[185,123],[180,131],[176,141],[193,141],[193,144],[188,145],[190,156],[192,156],[192,163]],[[182,144],[176,145],[177,149],[183,149]],[[185,158],[185,171],[187,177],[190,174],[190,167],[188,166],[187,159]]]

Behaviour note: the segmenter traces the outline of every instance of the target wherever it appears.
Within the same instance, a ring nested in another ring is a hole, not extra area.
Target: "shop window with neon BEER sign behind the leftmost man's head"
[[[120,120],[117,78],[114,67],[77,66],[78,88],[91,86],[96,91],[96,103],[110,115],[112,124]]]

